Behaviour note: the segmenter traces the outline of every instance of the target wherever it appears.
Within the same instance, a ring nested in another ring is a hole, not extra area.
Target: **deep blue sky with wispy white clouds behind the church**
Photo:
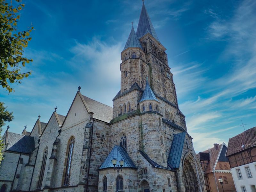
[[[15,119],[10,131],[48,122],[54,107],[66,115],[77,87],[112,106],[120,89],[120,58],[142,2],[28,1],[18,24],[32,23],[25,55],[32,75],[15,92],[0,89]],[[256,126],[256,1],[145,0],[167,48],[179,107],[198,152]],[[8,125],[8,123],[6,124]],[[4,131],[5,131],[4,127]]]

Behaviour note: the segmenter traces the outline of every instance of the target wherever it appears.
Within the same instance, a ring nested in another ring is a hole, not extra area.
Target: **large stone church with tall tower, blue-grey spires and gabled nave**
[[[31,132],[7,129],[0,191],[205,191],[165,50],[143,2],[137,32],[132,26],[121,52],[113,108],[79,86],[66,116],[55,108]],[[124,160],[118,177],[112,159]]]

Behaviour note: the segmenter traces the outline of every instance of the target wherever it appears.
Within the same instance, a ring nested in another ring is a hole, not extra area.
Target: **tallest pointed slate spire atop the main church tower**
[[[160,42],[156,35],[156,31],[152,25],[152,22],[149,19],[148,12],[147,12],[146,7],[143,2],[142,9],[140,12],[139,25],[138,25],[136,34],[137,34],[138,38],[140,38],[140,37],[146,35],[147,33],[150,33],[158,42]]]

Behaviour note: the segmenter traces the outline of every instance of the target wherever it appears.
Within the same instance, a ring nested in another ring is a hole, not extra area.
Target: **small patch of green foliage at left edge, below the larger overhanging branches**
[[[6,121],[10,122],[13,120],[12,112],[9,112],[8,110],[6,110],[6,108],[7,107],[4,107],[4,103],[0,102],[0,135],[2,133],[5,122]],[[3,159],[3,155],[2,155],[3,146],[4,146],[4,143],[2,142],[2,140],[0,140],[0,164]]]

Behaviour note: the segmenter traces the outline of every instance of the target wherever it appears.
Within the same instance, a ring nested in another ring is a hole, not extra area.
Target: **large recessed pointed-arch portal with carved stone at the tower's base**
[[[195,169],[188,159],[185,159],[183,164],[183,181],[185,185],[185,192],[198,192],[198,181]]]

